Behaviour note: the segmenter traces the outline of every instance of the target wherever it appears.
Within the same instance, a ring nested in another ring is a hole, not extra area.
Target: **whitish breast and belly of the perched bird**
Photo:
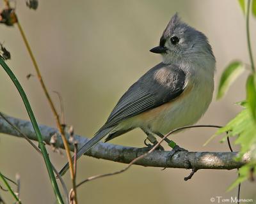
[[[172,129],[195,124],[204,115],[212,101],[214,74],[197,69],[187,79],[184,92],[163,107],[146,123],[152,132],[166,134]],[[152,115],[153,116],[153,115]]]

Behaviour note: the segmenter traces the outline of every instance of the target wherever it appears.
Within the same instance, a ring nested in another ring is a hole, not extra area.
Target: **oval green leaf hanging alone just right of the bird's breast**
[[[231,62],[223,71],[218,87],[217,99],[220,99],[227,92],[228,87],[244,71],[243,63],[240,61]]]

